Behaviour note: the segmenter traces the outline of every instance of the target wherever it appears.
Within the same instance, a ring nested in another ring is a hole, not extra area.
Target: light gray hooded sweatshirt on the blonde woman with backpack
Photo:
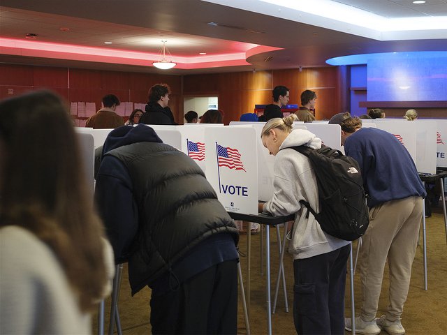
[[[312,213],[307,217],[307,208],[300,204],[300,200],[305,200],[317,213],[320,210],[315,173],[309,158],[293,149],[285,149],[299,145],[317,149],[321,147],[321,140],[302,129],[286,137],[274,159],[273,197],[263,205],[263,210],[273,216],[295,213],[288,249],[295,260],[329,253],[349,244],[323,232]]]

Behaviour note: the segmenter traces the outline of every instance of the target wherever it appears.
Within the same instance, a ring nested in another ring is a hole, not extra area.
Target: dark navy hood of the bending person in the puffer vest
[[[122,126],[115,128],[105,139],[103,154],[106,152],[137,142],[158,142],[163,143],[159,135],[156,135],[153,128],[145,124],[138,126]]]

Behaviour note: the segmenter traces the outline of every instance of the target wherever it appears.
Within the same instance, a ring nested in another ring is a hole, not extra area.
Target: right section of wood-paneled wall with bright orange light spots
[[[272,89],[277,85],[288,87],[291,104],[301,104],[300,94],[305,89],[316,91],[316,119],[330,119],[343,112],[339,71],[335,67],[185,75],[183,94],[218,96],[219,109],[228,124],[238,121],[244,113],[254,112],[256,104],[272,103]]]

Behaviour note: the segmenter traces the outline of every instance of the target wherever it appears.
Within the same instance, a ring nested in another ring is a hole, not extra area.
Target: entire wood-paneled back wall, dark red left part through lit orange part
[[[169,105],[179,124],[184,122],[184,96],[218,96],[219,109],[228,124],[244,113],[254,112],[256,104],[272,103],[272,89],[277,85],[288,87],[291,104],[300,105],[300,94],[305,89],[316,91],[317,119],[330,119],[342,112],[335,67],[178,76],[0,64],[0,98],[47,88],[68,102],[94,102],[97,109],[105,94],[115,94],[121,101],[146,103],[149,88],[159,82],[170,86]]]

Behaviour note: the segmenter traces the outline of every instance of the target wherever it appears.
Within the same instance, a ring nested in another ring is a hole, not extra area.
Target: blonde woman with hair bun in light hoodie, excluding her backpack
[[[344,287],[349,241],[337,239],[300,204],[320,209],[314,169],[309,158],[291,147],[321,147],[321,140],[309,131],[292,130],[295,114],[271,119],[262,131],[264,147],[274,161],[272,199],[259,204],[259,211],[273,216],[295,214],[289,252],[293,254],[295,277],[293,319],[298,334],[344,334]]]

